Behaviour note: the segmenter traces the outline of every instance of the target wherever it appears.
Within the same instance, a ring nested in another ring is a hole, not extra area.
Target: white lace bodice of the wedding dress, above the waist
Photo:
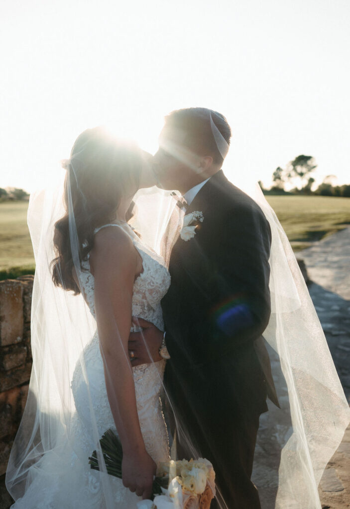
[[[95,229],[95,234],[102,228],[109,226],[119,227],[127,233],[142,259],[143,271],[135,279],[133,285],[132,316],[143,318],[148,322],[152,322],[158,329],[164,330],[160,301],[169,289],[170,274],[163,258],[143,244],[127,223],[104,224],[102,227]],[[95,279],[90,270],[89,255],[87,260],[82,263],[80,278],[86,301],[93,317],[96,318],[94,305]]]

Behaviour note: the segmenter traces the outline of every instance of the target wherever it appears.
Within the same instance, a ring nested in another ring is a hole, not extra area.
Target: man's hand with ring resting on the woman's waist
[[[159,355],[159,348],[163,341],[163,332],[155,325],[142,318],[132,317],[132,323],[142,330],[130,332],[128,350],[132,366],[157,362],[163,357]]]

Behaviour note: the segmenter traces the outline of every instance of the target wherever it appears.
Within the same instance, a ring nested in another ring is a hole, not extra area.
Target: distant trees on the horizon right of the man
[[[333,185],[334,175],[328,175],[316,189],[312,190],[315,182],[314,172],[317,164],[312,156],[300,155],[289,161],[285,168],[275,169],[270,189],[265,189],[262,182],[259,185],[264,194],[318,194],[321,196],[350,197],[350,184]],[[289,190],[286,190],[286,187]]]

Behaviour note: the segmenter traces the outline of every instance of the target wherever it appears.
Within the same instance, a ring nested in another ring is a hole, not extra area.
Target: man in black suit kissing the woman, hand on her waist
[[[171,251],[171,286],[162,301],[171,356],[165,384],[178,459],[205,457],[216,471],[218,500],[211,507],[259,509],[250,479],[259,415],[267,393],[276,402],[261,338],[270,318],[271,230],[258,205],[223,174],[213,127],[228,147],[223,115],[173,111],[154,156],[159,187],[184,198],[187,225]],[[158,349],[155,327],[144,336],[151,351]],[[142,361],[138,333],[130,340]]]

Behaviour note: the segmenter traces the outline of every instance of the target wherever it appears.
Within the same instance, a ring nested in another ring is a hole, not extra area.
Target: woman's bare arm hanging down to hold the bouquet
[[[105,228],[96,235],[90,261],[107,395],[123,446],[123,484],[149,498],[156,465],[146,453],[141,434],[127,348],[133,281],[142,261],[119,228]]]

